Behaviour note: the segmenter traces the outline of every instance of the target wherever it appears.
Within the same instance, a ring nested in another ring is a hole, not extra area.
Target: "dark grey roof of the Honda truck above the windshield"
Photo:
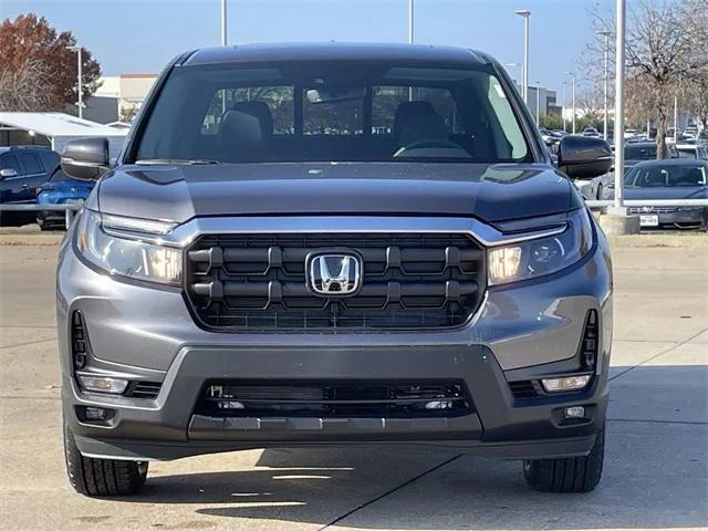
[[[465,48],[385,43],[279,43],[202,48],[181,64],[217,64],[271,61],[392,61],[457,65],[487,63],[478,52]]]

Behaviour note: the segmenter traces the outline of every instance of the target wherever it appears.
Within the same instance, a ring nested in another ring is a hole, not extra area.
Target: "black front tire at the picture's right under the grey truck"
[[[541,492],[590,492],[597,487],[605,457],[605,428],[584,457],[523,461],[523,476],[532,489]]]

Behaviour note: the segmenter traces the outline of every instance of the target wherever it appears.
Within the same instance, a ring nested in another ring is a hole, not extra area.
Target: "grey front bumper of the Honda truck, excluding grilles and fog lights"
[[[579,264],[535,281],[490,289],[471,324],[446,332],[225,334],[198,327],[179,290],[112,280],[86,267],[67,235],[58,271],[64,418],[84,455],[174,459],[262,447],[423,445],[499,458],[584,455],[604,421],[612,341],[612,273],[604,238]],[[70,348],[81,310],[88,366],[159,382],[155,399],[84,393]],[[579,365],[587,312],[600,315],[597,368],[580,393],[518,398],[508,382],[568,374]],[[210,378],[336,381],[461,379],[473,408],[436,418],[212,418],[195,415]],[[563,408],[582,405],[585,420]],[[81,420],[86,406],[112,409]]]

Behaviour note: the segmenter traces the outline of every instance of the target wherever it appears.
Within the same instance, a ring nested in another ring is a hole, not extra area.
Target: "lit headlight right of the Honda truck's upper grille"
[[[593,244],[589,216],[584,208],[574,210],[560,235],[490,249],[489,285],[551,274],[577,262]]]

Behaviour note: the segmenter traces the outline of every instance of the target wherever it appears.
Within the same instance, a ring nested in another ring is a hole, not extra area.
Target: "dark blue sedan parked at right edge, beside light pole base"
[[[685,158],[647,160],[624,176],[625,199],[707,199],[708,162]],[[614,198],[612,187],[607,190]],[[629,207],[643,228],[708,229],[708,207]]]

